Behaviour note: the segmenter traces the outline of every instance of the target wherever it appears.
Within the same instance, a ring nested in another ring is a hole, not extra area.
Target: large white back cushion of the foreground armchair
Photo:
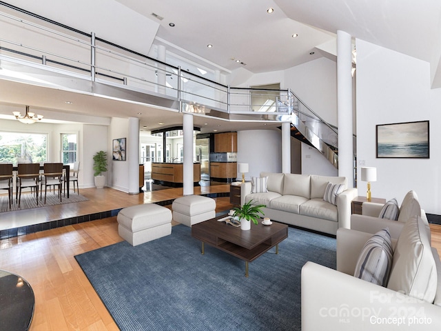
[[[393,251],[387,288],[433,303],[437,287],[435,259],[426,225],[419,216],[407,221]]]

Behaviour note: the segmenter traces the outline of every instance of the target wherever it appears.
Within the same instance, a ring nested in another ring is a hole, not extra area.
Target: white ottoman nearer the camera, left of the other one
[[[155,203],[123,208],[116,221],[119,235],[132,246],[172,233],[171,210]]]

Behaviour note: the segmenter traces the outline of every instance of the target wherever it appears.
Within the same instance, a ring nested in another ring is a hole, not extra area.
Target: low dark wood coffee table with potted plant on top
[[[202,254],[205,254],[204,244],[208,243],[219,250],[223,250],[234,257],[245,261],[245,277],[248,277],[248,263],[276,246],[288,237],[288,226],[273,222],[263,225],[259,220],[258,225],[252,224],[251,230],[243,231],[223,221],[223,217],[216,217],[192,225],[192,237],[202,241]]]

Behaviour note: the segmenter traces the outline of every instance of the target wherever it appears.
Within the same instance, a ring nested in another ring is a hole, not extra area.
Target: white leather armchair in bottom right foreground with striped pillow
[[[367,224],[374,226],[371,229],[366,226],[369,232],[338,230],[337,270],[305,263],[302,331],[441,330],[441,261],[430,247],[427,221],[414,216],[401,224],[400,236],[391,239],[393,254],[384,285],[354,277],[358,265],[384,268],[380,265],[384,259],[376,259],[377,265],[360,263],[372,232],[376,233],[373,223]]]

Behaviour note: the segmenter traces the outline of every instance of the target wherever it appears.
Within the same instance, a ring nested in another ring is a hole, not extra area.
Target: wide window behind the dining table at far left
[[[0,162],[43,163],[47,160],[48,134],[0,132]]]

